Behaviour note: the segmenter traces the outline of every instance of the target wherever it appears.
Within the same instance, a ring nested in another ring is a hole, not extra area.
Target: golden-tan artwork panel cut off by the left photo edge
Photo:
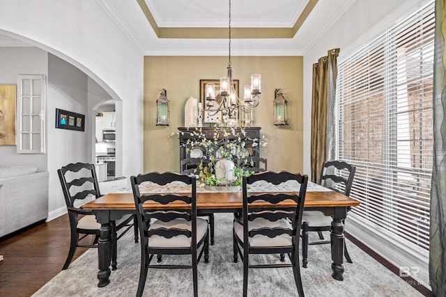
[[[16,85],[0,85],[0,145],[15,145]]]

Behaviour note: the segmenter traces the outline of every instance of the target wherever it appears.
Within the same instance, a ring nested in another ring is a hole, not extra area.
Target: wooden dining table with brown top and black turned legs
[[[335,191],[307,191],[305,198],[305,210],[323,211],[332,216],[331,252],[332,252],[332,277],[336,280],[344,280],[344,219],[350,207],[359,205],[360,202]],[[281,202],[277,204],[281,208],[293,208],[295,202]],[[184,207],[180,202],[172,204],[172,209]],[[259,210],[265,204],[259,202]],[[98,199],[84,204],[83,209],[95,213],[96,220],[101,224],[98,241],[98,287],[109,284],[111,273],[112,227],[110,222],[118,220],[124,214],[134,214],[134,198],[132,193],[109,193]],[[242,193],[238,192],[197,192],[197,214],[210,213],[236,213],[243,208]],[[156,209],[155,204],[146,203],[144,209]]]

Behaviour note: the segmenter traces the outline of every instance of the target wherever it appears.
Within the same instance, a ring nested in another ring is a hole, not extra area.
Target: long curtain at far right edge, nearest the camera
[[[429,280],[433,294],[446,296],[446,0],[436,0],[433,63],[433,168]]]

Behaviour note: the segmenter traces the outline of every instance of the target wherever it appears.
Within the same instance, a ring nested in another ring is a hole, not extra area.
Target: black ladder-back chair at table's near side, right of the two
[[[254,182],[265,181],[279,185],[290,180],[300,184],[298,193],[249,193]],[[243,212],[234,216],[233,257],[243,260],[243,296],[247,296],[248,268],[293,268],[299,296],[304,296],[299,267],[300,223],[307,192],[307,175],[291,172],[259,172],[243,177]],[[293,200],[292,209],[280,208],[277,203]],[[260,201],[260,202],[259,202]],[[251,254],[288,254],[291,263],[249,264]]]

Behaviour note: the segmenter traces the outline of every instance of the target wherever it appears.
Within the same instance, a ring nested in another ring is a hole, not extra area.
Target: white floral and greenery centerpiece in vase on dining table
[[[184,144],[187,153],[197,148],[203,152],[194,174],[201,186],[241,186],[242,177],[254,172],[249,170],[254,163],[248,157],[254,152],[264,152],[268,141],[265,136],[249,138],[244,128],[236,130],[222,123],[215,124],[214,128],[212,139],[206,138],[200,127],[180,132],[192,136]]]

